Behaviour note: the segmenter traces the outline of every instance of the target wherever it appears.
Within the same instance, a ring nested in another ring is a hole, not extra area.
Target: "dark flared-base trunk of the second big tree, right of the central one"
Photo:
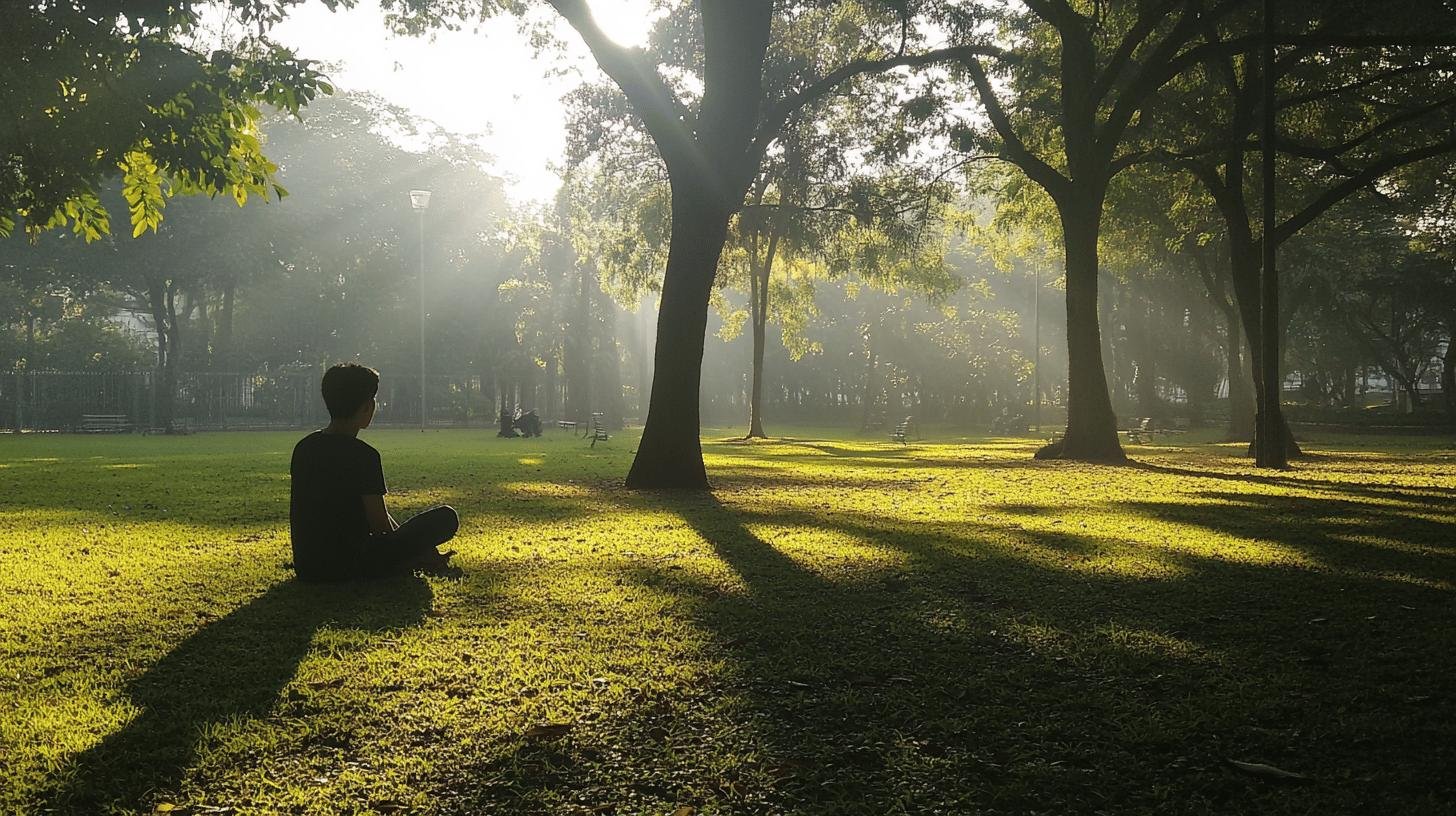
[[[1041,459],[1124,462],[1098,329],[1098,227],[1102,197],[1076,191],[1057,203],[1067,270],[1067,430]]]

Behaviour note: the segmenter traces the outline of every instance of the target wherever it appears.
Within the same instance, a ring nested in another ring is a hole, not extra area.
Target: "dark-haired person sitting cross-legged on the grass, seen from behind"
[[[443,570],[454,551],[460,517],[447,506],[395,523],[384,507],[379,450],[358,437],[374,420],[379,372],[355,364],[323,374],[329,427],[293,449],[288,506],[293,568],[304,581],[370,578],[414,570]]]

